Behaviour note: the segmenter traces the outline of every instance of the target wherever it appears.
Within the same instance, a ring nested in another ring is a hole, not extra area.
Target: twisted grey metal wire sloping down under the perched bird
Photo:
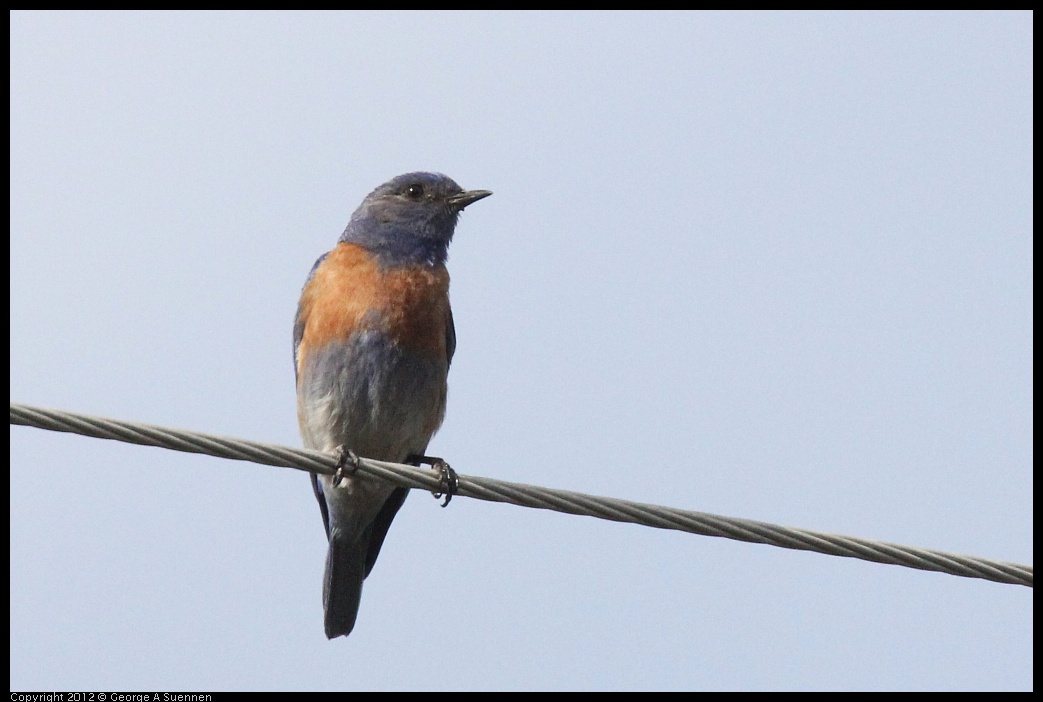
[[[258,441],[244,441],[197,432],[104,419],[15,403],[10,405],[10,423],[326,475],[333,475],[338,467],[336,456],[318,451],[290,449]],[[421,488],[432,492],[441,489],[441,477],[434,470],[368,458],[360,459],[359,469],[364,474],[382,478],[402,487]],[[829,556],[858,558],[921,571],[936,571],[964,578],[981,578],[1001,583],[1033,586],[1033,568],[1029,565],[838,534],[825,534],[765,522],[693,512],[535,485],[510,483],[490,478],[459,476],[459,487],[455,494],[522,507],[549,509],[566,514],[596,516],[612,522],[629,522],[657,529],[675,529],[704,536],[721,536],[739,541],[767,543],[783,549],[814,551]]]

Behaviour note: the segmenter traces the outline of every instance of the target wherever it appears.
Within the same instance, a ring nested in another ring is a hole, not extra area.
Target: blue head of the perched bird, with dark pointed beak
[[[442,264],[460,212],[491,194],[441,173],[406,173],[366,195],[340,241],[368,249],[383,266]]]

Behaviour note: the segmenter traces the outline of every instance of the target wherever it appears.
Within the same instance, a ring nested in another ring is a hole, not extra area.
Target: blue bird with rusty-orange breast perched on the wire
[[[307,447],[432,462],[425,452],[445,416],[456,350],[448,246],[463,209],[491,194],[440,173],[398,175],[366,195],[315,262],[293,323]],[[355,628],[362,582],[409,490],[357,471],[311,481],[329,539],[322,607],[333,639]]]

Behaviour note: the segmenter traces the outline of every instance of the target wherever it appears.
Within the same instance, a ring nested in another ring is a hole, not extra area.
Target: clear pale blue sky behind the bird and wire
[[[460,473],[1030,563],[1032,22],[15,13],[11,400],[299,445],[436,170]],[[1033,686],[1025,587],[421,492],[331,643],[302,474],[10,436],[17,689]]]

